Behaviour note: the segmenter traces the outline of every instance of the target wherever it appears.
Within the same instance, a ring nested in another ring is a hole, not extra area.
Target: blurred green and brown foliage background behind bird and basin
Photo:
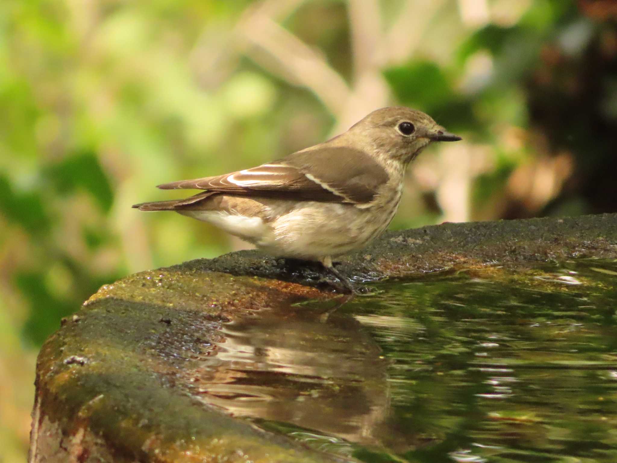
[[[126,273],[239,249],[131,209],[378,107],[428,149],[392,227],[617,212],[614,0],[2,0],[0,461],[25,459],[36,352]]]

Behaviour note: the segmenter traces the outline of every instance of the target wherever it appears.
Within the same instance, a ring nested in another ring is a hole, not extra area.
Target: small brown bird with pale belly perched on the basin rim
[[[353,291],[332,258],[386,230],[399,207],[405,169],[425,146],[457,140],[423,112],[386,107],[325,143],[277,161],[158,186],[204,190],[190,198],[133,207],[176,211],[268,254],[319,261]]]

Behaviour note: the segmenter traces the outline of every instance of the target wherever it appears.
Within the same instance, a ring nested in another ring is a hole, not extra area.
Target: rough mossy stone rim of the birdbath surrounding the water
[[[577,256],[617,257],[617,214],[391,232],[338,268],[367,281]],[[193,374],[224,323],[335,295],[318,267],[256,251],[103,286],[41,349],[30,461],[336,461],[204,406]]]

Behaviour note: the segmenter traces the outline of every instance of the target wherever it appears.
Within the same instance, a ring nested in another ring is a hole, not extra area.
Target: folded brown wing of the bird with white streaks
[[[252,169],[174,181],[159,188],[361,204],[372,201],[387,178],[381,164],[363,151],[317,146]]]

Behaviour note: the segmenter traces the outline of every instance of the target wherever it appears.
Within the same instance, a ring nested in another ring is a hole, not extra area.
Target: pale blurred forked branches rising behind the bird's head
[[[354,60],[352,88],[322,54],[278,23],[304,1],[265,0],[254,4],[242,14],[228,36],[228,46],[223,46],[217,56],[211,56],[206,46],[209,40],[202,41],[204,45],[199,46],[194,55],[200,58],[196,62],[205,72],[201,73],[201,80],[207,83],[214,75],[219,76],[215,80],[220,80],[225,69],[231,70],[230,62],[246,54],[268,72],[312,91],[336,116],[337,125],[333,131],[340,131],[367,112],[389,104],[391,93],[383,79],[382,67],[408,59],[446,0],[405,2],[388,31],[383,30],[377,0],[349,0]]]

